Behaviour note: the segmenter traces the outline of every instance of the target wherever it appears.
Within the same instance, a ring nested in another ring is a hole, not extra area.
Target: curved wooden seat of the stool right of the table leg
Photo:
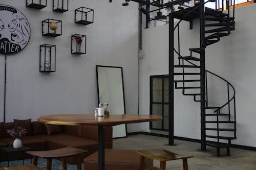
[[[179,155],[179,154],[167,151],[165,149],[139,150],[136,152],[145,158],[155,159],[155,160],[159,160],[159,161],[168,161],[168,160],[176,160],[176,159],[184,159],[184,158],[192,158],[193,157],[193,156]]]

